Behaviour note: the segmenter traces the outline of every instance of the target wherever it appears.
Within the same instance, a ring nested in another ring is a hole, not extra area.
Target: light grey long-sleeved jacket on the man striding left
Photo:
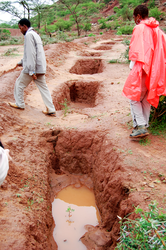
[[[23,66],[23,72],[29,75],[45,74],[46,59],[40,36],[30,27],[24,40],[24,57],[18,64]]]

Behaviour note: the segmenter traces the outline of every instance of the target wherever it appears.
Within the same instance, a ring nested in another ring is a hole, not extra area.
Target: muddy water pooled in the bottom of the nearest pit
[[[58,250],[86,250],[80,241],[86,232],[84,226],[96,226],[100,221],[93,192],[85,186],[69,186],[58,193],[52,211],[56,224],[53,237]]]

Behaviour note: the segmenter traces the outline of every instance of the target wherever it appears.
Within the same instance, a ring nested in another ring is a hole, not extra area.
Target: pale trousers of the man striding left
[[[14,98],[16,101],[16,105],[20,108],[25,108],[24,89],[30,84],[32,80],[33,80],[32,76],[23,73],[23,71],[16,80],[14,87]],[[33,81],[35,82],[36,86],[40,91],[43,102],[46,105],[48,112],[49,113],[55,112],[55,107],[52,102],[51,94],[45,81],[45,75],[44,74],[37,75],[37,79]]]

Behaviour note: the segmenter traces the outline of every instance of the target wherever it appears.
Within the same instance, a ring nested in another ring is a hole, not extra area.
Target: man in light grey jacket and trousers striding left
[[[28,19],[21,19],[18,26],[25,36],[24,57],[17,64],[17,66],[23,66],[23,70],[15,83],[14,98],[16,102],[9,102],[9,105],[13,108],[25,109],[24,89],[34,80],[46,105],[46,111],[42,112],[45,115],[55,115],[55,107],[45,81],[46,59],[41,38],[31,27]]]

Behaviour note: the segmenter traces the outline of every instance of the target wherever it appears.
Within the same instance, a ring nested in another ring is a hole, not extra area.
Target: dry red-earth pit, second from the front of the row
[[[96,106],[100,85],[98,81],[78,80],[60,84],[53,93],[53,103],[56,110],[62,110],[65,103],[72,109]]]

